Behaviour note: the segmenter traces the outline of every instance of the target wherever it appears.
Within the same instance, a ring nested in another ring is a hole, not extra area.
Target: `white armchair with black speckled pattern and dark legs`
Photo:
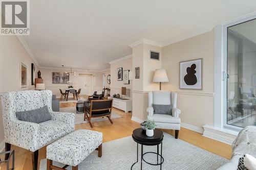
[[[11,144],[32,151],[33,169],[37,169],[38,150],[45,145],[74,131],[74,113],[52,111],[50,90],[24,90],[5,92],[1,95],[6,151]],[[23,122],[16,118],[16,112],[34,110],[48,106],[51,120],[40,124]],[[9,155],[6,155],[8,158]]]

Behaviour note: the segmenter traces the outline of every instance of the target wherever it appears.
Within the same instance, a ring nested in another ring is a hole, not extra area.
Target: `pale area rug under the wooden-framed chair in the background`
[[[76,113],[76,107],[64,107],[64,108],[59,108],[59,111],[60,112],[68,112],[68,113],[75,113],[75,117],[76,117],[76,124],[85,124],[85,123],[88,123],[88,121],[84,121],[83,120],[83,116],[84,114],[83,113]],[[114,119],[114,118],[120,118],[122,116],[120,116],[119,114],[115,113],[113,110],[112,110],[112,113],[111,113],[111,119]],[[109,120],[107,117],[104,117],[104,118],[92,118],[92,122],[99,122],[99,121],[104,121],[104,120]]]

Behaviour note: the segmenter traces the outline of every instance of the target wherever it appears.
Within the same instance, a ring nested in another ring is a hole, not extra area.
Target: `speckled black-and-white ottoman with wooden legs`
[[[98,157],[102,156],[102,133],[91,130],[77,130],[47,146],[47,170],[65,169],[52,165],[57,161],[78,169],[78,164],[86,159],[94,150],[98,150]]]

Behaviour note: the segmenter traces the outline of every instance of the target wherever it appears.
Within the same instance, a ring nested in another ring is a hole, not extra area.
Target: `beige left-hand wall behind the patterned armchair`
[[[31,85],[31,63],[35,62],[15,36],[0,36],[0,61],[0,92],[34,89]],[[20,88],[20,62],[27,65],[27,88]],[[4,140],[2,111],[0,114],[1,143]]]

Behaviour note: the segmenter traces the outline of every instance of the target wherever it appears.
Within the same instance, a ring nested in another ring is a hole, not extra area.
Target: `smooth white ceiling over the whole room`
[[[41,67],[103,70],[142,38],[166,45],[255,10],[255,0],[31,0],[24,39]]]

